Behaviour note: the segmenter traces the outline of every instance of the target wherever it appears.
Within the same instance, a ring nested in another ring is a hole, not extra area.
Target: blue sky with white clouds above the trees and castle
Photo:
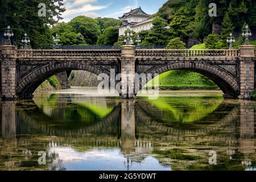
[[[68,22],[79,15],[118,18],[139,6],[146,13],[154,14],[165,2],[167,0],[64,0],[67,10],[63,13],[63,21]]]

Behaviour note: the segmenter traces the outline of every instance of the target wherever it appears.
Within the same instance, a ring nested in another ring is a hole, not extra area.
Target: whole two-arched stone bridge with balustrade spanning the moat
[[[14,46],[1,46],[1,98],[31,98],[48,77],[72,70],[105,73],[110,77],[122,73],[120,97],[135,98],[149,81],[144,78],[137,83],[135,73],[153,73],[154,77],[175,69],[207,76],[220,87],[224,97],[250,98],[256,81],[255,53],[255,46],[250,45],[232,50],[135,49],[134,46],[108,50],[19,50]]]

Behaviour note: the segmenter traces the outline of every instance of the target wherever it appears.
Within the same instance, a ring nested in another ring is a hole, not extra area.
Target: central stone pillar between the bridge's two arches
[[[121,96],[136,98],[135,94],[135,46],[121,46]]]

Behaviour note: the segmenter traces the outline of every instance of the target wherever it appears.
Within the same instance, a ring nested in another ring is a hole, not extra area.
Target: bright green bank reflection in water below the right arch
[[[207,102],[205,102],[207,100]],[[165,122],[195,122],[212,113],[221,104],[222,97],[159,97],[157,100],[146,100],[153,107],[148,107],[160,115]],[[148,109],[147,108],[147,109]],[[151,109],[152,108],[152,109]]]

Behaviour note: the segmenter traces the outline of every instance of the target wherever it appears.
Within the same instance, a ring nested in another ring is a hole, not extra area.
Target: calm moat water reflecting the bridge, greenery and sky
[[[0,170],[255,170],[255,101],[119,100],[72,88],[1,102]]]

